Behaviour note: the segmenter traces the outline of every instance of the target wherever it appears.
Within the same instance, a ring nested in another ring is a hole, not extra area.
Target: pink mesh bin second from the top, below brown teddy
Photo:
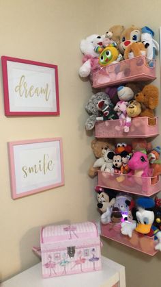
[[[159,134],[158,118],[156,125],[149,125],[148,117],[132,118],[132,125],[128,133],[123,131],[124,120],[99,121],[95,125],[96,138],[148,138]]]

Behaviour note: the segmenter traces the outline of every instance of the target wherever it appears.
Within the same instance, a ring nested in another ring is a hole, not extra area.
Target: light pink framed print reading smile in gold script
[[[64,185],[61,138],[8,142],[12,198]]]

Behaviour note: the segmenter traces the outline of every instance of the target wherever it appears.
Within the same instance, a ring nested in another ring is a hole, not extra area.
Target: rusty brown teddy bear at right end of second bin
[[[135,99],[142,105],[142,112],[140,116],[148,116],[149,125],[156,125],[153,110],[158,106],[158,88],[151,84],[146,85],[141,92],[138,92],[138,94],[135,95]]]

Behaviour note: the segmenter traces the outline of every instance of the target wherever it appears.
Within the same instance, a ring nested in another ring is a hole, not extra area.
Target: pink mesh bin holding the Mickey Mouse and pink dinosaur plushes
[[[161,190],[160,177],[156,184],[151,184],[151,177],[136,177],[135,175],[121,175],[98,171],[98,186],[121,190],[134,195],[151,196]]]

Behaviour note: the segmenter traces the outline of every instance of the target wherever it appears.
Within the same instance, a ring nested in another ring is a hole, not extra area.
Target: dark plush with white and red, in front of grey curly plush
[[[117,120],[119,117],[113,109],[113,104],[108,101],[100,100],[97,104],[98,110],[102,112],[102,116],[96,118],[97,121]]]

